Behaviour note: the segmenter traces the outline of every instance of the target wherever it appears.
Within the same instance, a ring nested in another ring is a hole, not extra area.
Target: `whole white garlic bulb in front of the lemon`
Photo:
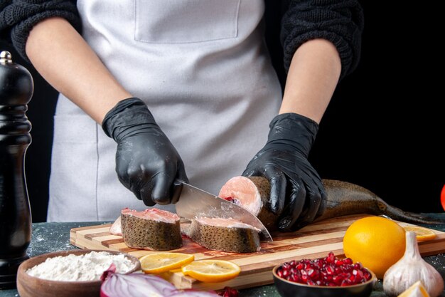
[[[444,279],[419,253],[416,234],[407,232],[407,244],[402,259],[392,265],[383,277],[383,290],[389,296],[397,296],[417,281],[422,281],[431,297],[444,291]]]

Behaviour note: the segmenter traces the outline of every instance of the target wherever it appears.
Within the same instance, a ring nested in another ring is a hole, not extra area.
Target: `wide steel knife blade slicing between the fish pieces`
[[[195,219],[196,217],[237,219],[261,230],[262,240],[273,241],[264,224],[246,209],[205,192],[203,189],[193,187],[191,184],[182,181],[181,183],[183,184],[181,196],[175,204],[176,214],[179,217],[186,219]]]

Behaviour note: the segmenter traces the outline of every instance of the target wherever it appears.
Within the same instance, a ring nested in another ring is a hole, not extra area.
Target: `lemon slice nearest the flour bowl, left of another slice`
[[[141,257],[141,269],[145,273],[162,273],[191,263],[195,256],[182,253],[159,253]]]

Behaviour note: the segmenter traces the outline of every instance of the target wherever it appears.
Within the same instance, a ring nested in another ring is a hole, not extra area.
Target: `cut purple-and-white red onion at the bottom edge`
[[[114,273],[100,288],[100,297],[220,297],[216,293],[178,290],[165,279],[146,273]]]

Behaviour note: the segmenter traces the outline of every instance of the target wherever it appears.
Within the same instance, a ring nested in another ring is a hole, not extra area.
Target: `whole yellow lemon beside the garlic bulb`
[[[353,222],[343,237],[345,256],[360,262],[383,278],[385,271],[402,258],[405,230],[384,217],[365,217]]]

